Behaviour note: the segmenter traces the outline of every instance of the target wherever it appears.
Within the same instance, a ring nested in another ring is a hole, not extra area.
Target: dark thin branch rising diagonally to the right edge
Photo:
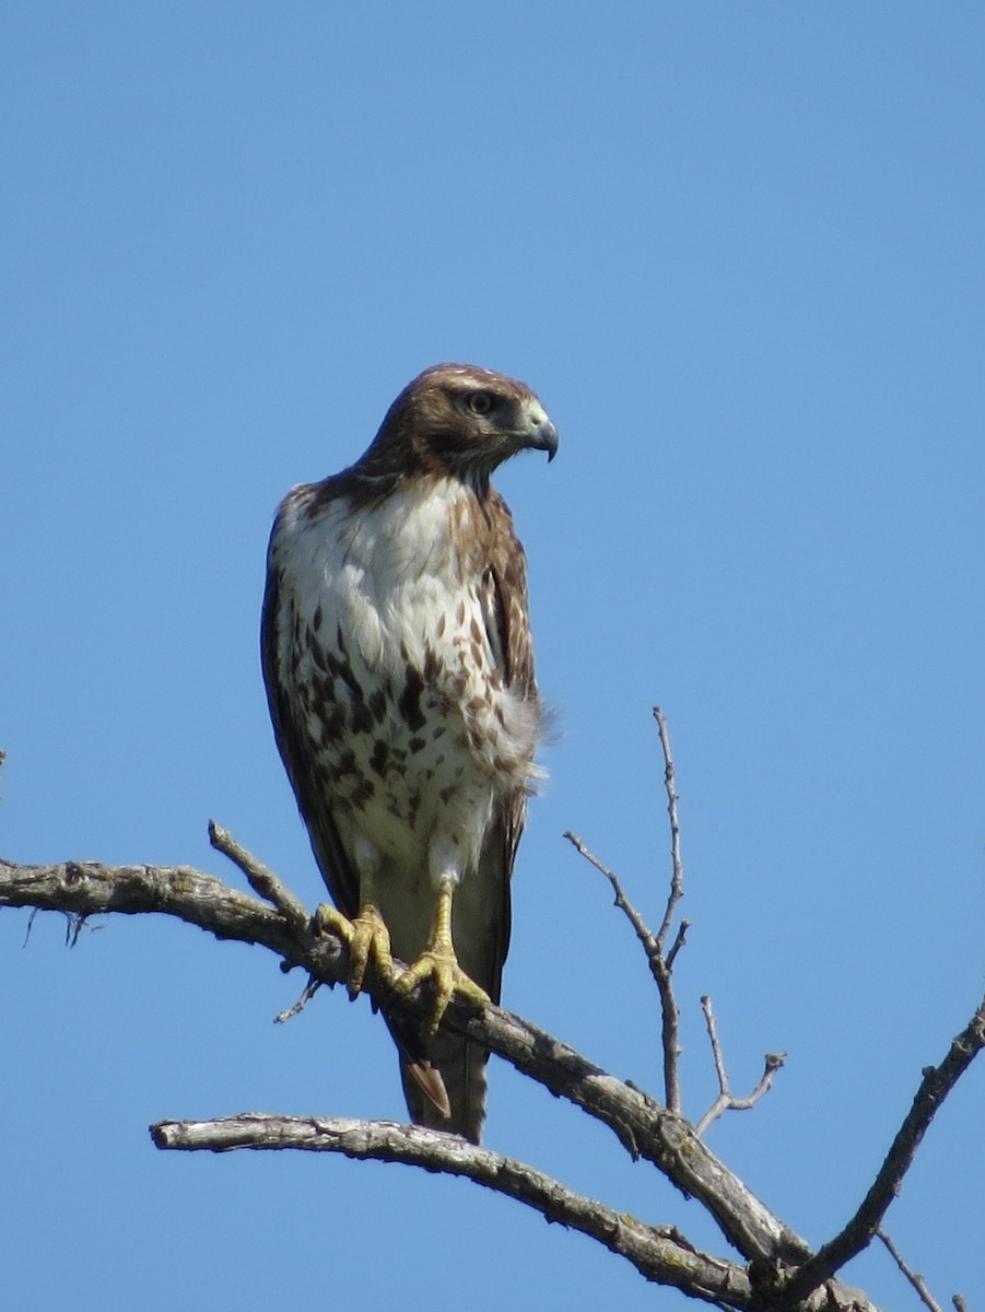
[[[947,1056],[938,1067],[926,1067],[913,1106],[906,1114],[885,1161],[862,1206],[845,1229],[824,1245],[796,1271],[787,1287],[786,1299],[795,1303],[816,1290],[833,1271],[841,1270],[872,1241],[889,1203],[898,1194],[927,1126],[954,1089],[957,1080],[985,1047],[985,998],[968,1025],[954,1039]]]

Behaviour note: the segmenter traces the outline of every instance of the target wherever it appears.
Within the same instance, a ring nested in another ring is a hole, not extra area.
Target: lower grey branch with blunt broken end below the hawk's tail
[[[392,1120],[243,1114],[206,1122],[165,1120],[151,1126],[151,1138],[159,1148],[210,1152],[295,1148],[463,1176],[533,1207],[550,1221],[581,1231],[627,1258],[648,1281],[685,1290],[708,1303],[727,1299],[733,1308],[752,1307],[753,1288],[741,1266],[698,1252],[670,1227],[645,1225],[576,1194],[533,1166],[477,1148],[456,1135]]]

